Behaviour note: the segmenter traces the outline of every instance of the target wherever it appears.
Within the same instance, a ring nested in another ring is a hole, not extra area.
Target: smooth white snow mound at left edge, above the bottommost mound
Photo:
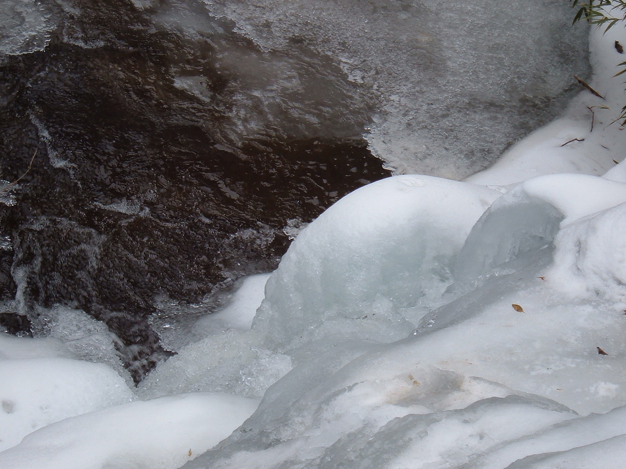
[[[42,426],[132,398],[123,378],[101,363],[67,358],[2,360],[0,451]]]

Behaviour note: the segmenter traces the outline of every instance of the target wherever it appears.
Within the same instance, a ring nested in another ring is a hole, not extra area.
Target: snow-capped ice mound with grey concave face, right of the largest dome
[[[454,280],[476,280],[515,260],[520,267],[550,245],[559,229],[624,202],[626,184],[587,174],[548,174],[517,184],[472,228]]]

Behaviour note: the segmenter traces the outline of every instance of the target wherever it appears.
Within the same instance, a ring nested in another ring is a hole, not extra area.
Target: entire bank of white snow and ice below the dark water
[[[0,335],[0,466],[623,466],[616,40],[592,28],[605,99],[582,91],[468,181],[349,194],[134,392],[81,311],[55,310],[47,340]]]

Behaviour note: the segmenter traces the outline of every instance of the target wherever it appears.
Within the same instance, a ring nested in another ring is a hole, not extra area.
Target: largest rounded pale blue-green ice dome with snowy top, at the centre
[[[267,282],[253,329],[292,346],[305,335],[403,338],[419,320],[406,308],[440,299],[469,230],[499,196],[485,186],[415,175],[357,189],[290,246]]]

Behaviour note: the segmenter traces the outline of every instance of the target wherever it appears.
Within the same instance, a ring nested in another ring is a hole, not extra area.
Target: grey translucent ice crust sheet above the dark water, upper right
[[[496,0],[205,4],[264,51],[299,49],[338,61],[357,89],[378,97],[367,139],[399,174],[462,178],[484,168],[551,117],[573,73],[586,73],[585,33],[572,28],[561,1],[506,9]],[[293,96],[295,79],[292,69],[261,92],[267,108],[280,89]]]

